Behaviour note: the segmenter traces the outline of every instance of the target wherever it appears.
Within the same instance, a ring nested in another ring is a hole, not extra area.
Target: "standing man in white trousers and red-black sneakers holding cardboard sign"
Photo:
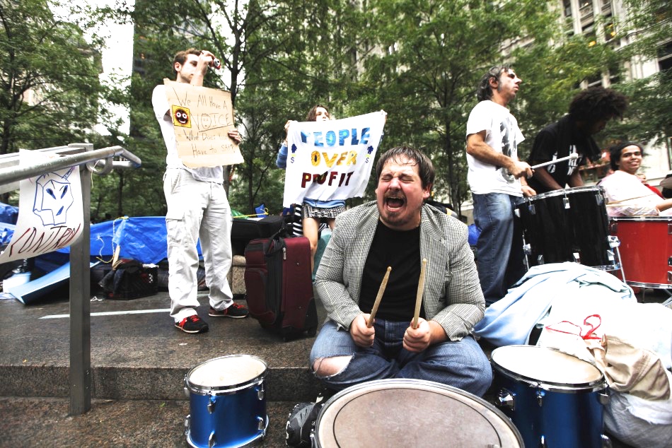
[[[203,79],[210,67],[214,67],[214,54],[206,50],[187,49],[175,54],[173,71],[178,84],[190,84],[203,89]],[[182,100],[169,101],[170,88],[159,85],[154,88],[152,105],[161,126],[163,141],[166,143],[166,173],[163,175],[163,192],[166,194],[166,230],[168,239],[168,293],[170,294],[170,317],[175,327],[186,333],[202,333],[208,324],[196,312],[197,276],[199,257],[197,242],[200,240],[205,262],[206,282],[209,288],[209,315],[214,317],[247,317],[248,310],[233,302],[233,293],[226,280],[233,259],[231,249],[231,207],[222,186],[224,170],[219,166],[198,166],[190,163],[187,167],[178,155],[178,137],[187,136],[192,140],[215,138],[212,133],[202,131],[212,129],[214,121],[225,124],[224,114],[195,114],[192,108],[202,106],[210,100],[215,107],[225,106],[212,100],[202,90],[197,98],[190,100],[189,90],[178,94]],[[211,90],[211,89],[207,89]],[[178,91],[173,89],[173,92]],[[231,120],[233,114],[231,113]],[[207,122],[206,122],[207,119]],[[195,126],[195,134],[187,129]],[[241,142],[236,129],[227,132],[228,138]],[[200,151],[200,150],[195,150]]]

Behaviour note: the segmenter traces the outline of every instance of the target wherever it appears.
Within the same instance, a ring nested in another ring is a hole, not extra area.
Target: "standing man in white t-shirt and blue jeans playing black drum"
[[[530,165],[518,160],[523,134],[506,106],[516,98],[519,78],[510,67],[492,67],[477,88],[480,102],[467,122],[467,180],[474,201],[478,276],[488,305],[506,295],[523,274],[523,240],[514,206],[535,191],[526,184]],[[516,225],[517,227],[517,225]]]

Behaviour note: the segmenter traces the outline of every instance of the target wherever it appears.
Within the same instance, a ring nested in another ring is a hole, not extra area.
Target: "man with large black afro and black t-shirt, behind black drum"
[[[569,114],[546,126],[534,139],[530,165],[565,160],[535,168],[533,177],[528,179],[530,187],[538,194],[564,189],[566,185],[582,187],[579,166],[586,165],[586,159],[595,161],[601,156],[593,135],[604,129],[610,119],[622,117],[626,107],[625,96],[615,90],[581,90],[569,105]],[[567,160],[574,154],[576,158]]]

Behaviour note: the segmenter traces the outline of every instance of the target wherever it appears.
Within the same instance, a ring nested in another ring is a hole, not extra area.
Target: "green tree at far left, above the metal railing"
[[[0,0],[0,154],[86,141],[98,119],[98,46],[54,4]]]

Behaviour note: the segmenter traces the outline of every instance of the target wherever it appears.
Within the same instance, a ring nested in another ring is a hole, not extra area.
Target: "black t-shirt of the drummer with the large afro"
[[[537,134],[528,163],[536,165],[567,157],[572,153],[577,153],[579,157],[574,160],[564,160],[564,162],[544,167],[548,171],[548,174],[555,179],[555,182],[563,188],[567,186],[567,181],[574,174],[574,171],[578,170],[579,166],[586,165],[586,158],[595,159],[596,155],[600,154],[600,148],[593,138],[578,131],[572,118],[569,115],[565,115],[557,122],[546,126]],[[535,179],[535,177],[528,179],[528,184],[537,191],[537,194],[552,191]]]

